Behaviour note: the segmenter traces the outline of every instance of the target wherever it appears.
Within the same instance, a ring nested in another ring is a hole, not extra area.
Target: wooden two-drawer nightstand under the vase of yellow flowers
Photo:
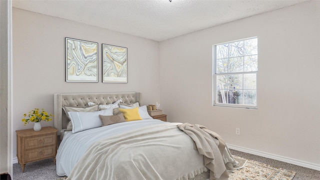
[[[32,129],[16,130],[16,157],[22,172],[28,162],[53,158],[55,163],[56,132],[53,127],[42,127],[39,131]]]

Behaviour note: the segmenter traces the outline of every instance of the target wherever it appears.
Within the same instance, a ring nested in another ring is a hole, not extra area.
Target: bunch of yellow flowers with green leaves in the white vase
[[[40,122],[41,120],[44,121],[50,121],[52,118],[50,116],[53,116],[52,114],[48,114],[44,109],[42,108],[41,111],[39,111],[38,108],[34,108],[29,111],[28,114],[23,114],[24,118],[22,118],[22,122],[27,124],[28,122]]]

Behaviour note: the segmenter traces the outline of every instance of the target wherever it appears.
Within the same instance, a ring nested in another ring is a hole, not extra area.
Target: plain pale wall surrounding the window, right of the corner
[[[229,144],[320,168],[319,9],[320,1],[308,1],[161,41],[168,119],[203,124]],[[252,36],[258,109],[212,106],[212,45]]]

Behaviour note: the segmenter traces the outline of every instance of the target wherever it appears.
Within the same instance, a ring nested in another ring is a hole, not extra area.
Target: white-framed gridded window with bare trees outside
[[[213,105],[257,108],[257,37],[213,45]]]

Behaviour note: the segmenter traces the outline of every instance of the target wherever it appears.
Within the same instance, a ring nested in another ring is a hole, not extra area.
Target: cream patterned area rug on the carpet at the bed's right
[[[228,172],[229,180],[291,180],[295,175],[294,171],[275,168],[268,164],[247,160],[235,155],[233,157],[239,162],[239,165],[234,167],[235,170],[233,172]],[[66,178],[64,176],[56,180],[65,180]]]

